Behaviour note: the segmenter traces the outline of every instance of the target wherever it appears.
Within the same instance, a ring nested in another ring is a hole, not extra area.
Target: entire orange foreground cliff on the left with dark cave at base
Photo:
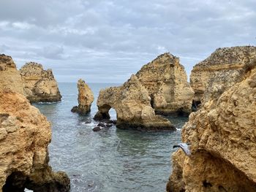
[[[67,174],[48,166],[50,123],[23,96],[10,56],[0,55],[0,69],[0,191],[69,191]]]

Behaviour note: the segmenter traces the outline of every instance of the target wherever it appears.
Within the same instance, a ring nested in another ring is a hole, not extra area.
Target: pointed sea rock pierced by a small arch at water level
[[[132,77],[119,87],[106,88],[99,92],[98,112],[95,120],[110,118],[110,108],[116,110],[118,128],[132,128],[140,131],[176,130],[169,120],[155,115],[150,104],[148,91],[138,78]]]

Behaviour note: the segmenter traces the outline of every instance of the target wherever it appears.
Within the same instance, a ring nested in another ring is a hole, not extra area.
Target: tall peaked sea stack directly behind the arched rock
[[[187,82],[184,66],[170,53],[159,55],[136,74],[151,97],[157,114],[189,114],[194,92]]]

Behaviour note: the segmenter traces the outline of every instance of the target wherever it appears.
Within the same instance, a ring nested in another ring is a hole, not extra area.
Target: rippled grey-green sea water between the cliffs
[[[168,117],[178,128],[169,133],[127,131],[116,126],[94,132],[97,122],[92,118],[99,90],[116,85],[89,83],[94,103],[84,117],[70,112],[78,104],[76,83],[59,83],[60,103],[34,104],[52,123],[50,166],[67,172],[72,192],[165,191],[173,145],[181,142],[181,127],[187,118]],[[116,119],[116,112],[110,110],[110,116]]]

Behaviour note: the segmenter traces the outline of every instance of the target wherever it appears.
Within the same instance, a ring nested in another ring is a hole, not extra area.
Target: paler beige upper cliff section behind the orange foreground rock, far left
[[[23,84],[15,63],[8,55],[0,54],[0,88],[23,94]]]

